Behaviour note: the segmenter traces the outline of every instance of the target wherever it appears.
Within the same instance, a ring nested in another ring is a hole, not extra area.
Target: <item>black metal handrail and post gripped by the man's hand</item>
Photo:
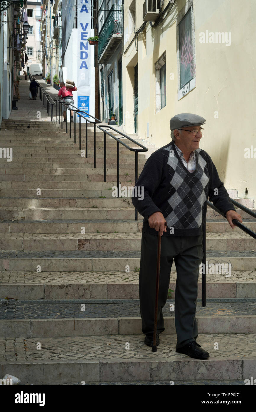
[[[231,199],[231,198],[229,199],[235,206],[238,206],[241,210],[243,210],[244,212],[256,218],[256,213],[251,211],[249,208],[241,205],[239,202],[237,202],[234,199]],[[213,210],[215,210],[217,213],[219,213],[221,216],[225,218],[224,213],[221,212],[219,209],[217,209],[216,206],[214,206],[209,200],[207,200],[207,206],[209,206],[210,208],[212,208]],[[233,219],[232,222],[235,226],[239,227],[244,232],[249,234],[251,237],[256,239],[256,233],[253,230],[249,229],[249,227],[244,226],[237,219]],[[206,267],[206,222],[202,226],[202,250],[203,250],[202,264],[204,264]],[[202,306],[206,306],[206,271],[205,273],[202,272]]]

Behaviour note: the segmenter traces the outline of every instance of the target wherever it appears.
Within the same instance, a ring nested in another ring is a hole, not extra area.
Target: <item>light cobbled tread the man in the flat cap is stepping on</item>
[[[197,342],[209,352],[210,358],[255,359],[256,334],[230,333],[198,336]],[[111,359],[173,360],[188,359],[177,353],[176,335],[160,335],[157,352],[144,344],[144,335],[101,335],[87,337],[7,337],[0,338],[0,362],[5,361],[102,361]],[[219,349],[214,349],[216,343]],[[126,348],[130,349],[126,349]],[[39,349],[41,348],[41,349]]]

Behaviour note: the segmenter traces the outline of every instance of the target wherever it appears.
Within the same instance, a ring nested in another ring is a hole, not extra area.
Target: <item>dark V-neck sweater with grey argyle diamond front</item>
[[[157,234],[149,226],[148,218],[155,212],[162,212],[167,222],[167,232],[163,232],[163,236],[200,235],[206,220],[208,196],[225,217],[228,210],[235,210],[207,152],[197,149],[195,157],[196,169],[190,173],[172,140],[147,159],[135,184],[135,188],[144,187],[144,199],[139,199],[137,189],[132,194],[133,205],[144,217],[144,231]],[[218,194],[214,194],[216,189]]]

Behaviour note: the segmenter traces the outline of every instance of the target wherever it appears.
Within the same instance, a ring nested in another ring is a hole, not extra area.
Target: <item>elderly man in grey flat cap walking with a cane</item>
[[[139,277],[144,343],[153,345],[157,232],[160,231],[157,345],[159,334],[165,330],[162,308],[168,296],[174,259],[177,271],[176,351],[197,359],[209,358],[209,353],[196,342],[198,326],[195,318],[199,265],[203,256],[202,225],[206,219],[208,196],[232,228],[235,227],[233,219],[242,222],[212,159],[205,150],[199,149],[202,124],[205,119],[192,113],[181,113],[170,119],[172,141],[147,159],[135,184],[135,187],[144,187],[144,199],[134,196],[136,190],[132,196],[133,205],[144,217]]]

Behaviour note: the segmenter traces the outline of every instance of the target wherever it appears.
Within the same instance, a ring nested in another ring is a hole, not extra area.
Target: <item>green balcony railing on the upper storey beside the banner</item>
[[[102,28],[99,33],[99,44],[98,44],[98,59],[102,55],[107,43],[111,39],[113,34],[123,33],[123,17],[122,9],[119,5],[113,4],[106,20],[103,23]]]

